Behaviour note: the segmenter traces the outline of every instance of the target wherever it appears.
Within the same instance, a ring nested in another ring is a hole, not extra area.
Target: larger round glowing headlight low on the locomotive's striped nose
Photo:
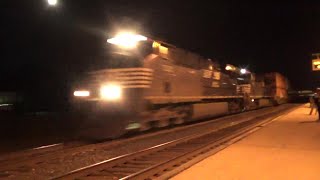
[[[122,89],[118,85],[104,85],[100,88],[100,97],[104,100],[119,100],[122,96]]]

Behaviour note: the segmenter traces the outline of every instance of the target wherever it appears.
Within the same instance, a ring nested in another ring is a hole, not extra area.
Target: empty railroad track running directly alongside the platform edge
[[[262,127],[279,114],[280,112],[273,112],[227,128],[179,138],[101,161],[53,179],[167,179],[213,152],[221,150],[226,144],[235,142]]]

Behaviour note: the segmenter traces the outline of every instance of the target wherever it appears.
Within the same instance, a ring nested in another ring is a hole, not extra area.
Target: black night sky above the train
[[[210,2],[210,3],[209,3]],[[317,1],[1,1],[0,91],[67,97],[70,82],[105,56],[120,28],[158,37],[222,63],[278,71],[294,89],[319,86]],[[318,83],[318,85],[316,84]]]

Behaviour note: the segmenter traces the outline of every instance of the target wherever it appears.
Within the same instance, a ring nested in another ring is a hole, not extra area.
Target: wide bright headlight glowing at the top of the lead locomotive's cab
[[[108,39],[107,42],[110,44],[118,45],[122,48],[131,49],[137,46],[139,41],[146,41],[147,38],[132,33],[120,33],[117,34],[114,38]]]

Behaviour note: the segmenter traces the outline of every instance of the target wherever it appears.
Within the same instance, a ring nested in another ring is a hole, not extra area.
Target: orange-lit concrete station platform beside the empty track
[[[309,104],[195,164],[173,180],[320,179],[320,123]]]

